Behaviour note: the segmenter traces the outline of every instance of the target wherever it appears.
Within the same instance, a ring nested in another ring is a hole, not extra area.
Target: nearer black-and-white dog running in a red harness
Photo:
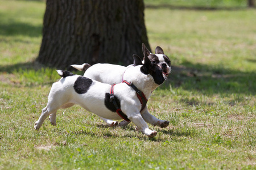
[[[147,123],[166,128],[170,122],[159,120],[146,112],[142,108],[138,94],[148,99],[151,92],[167,77],[163,70],[156,63],[152,63],[147,56],[144,58],[144,64],[138,56],[133,55],[133,58],[134,66],[127,68],[126,74],[123,75],[125,81],[115,85],[101,83],[69,71],[57,70],[62,78],[59,82],[53,83],[47,106],[43,109],[39,120],[35,122],[34,128],[39,129],[50,114],[51,124],[56,125],[57,110],[69,108],[75,104],[100,117],[120,120],[122,117],[115,112],[118,105],[123,116],[134,122],[139,131],[148,137],[155,137],[157,132],[150,130]],[[112,103],[112,97],[116,105]]]

